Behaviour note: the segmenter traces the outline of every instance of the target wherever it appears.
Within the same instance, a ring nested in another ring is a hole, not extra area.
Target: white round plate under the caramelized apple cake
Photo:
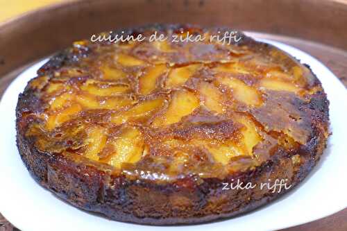
[[[321,162],[296,189],[253,212],[202,225],[153,227],[110,221],[83,212],[53,196],[29,175],[15,143],[17,97],[46,60],[16,78],[0,103],[0,212],[22,231],[30,230],[277,230],[321,219],[347,207],[347,91],[321,62],[291,46],[278,46],[310,65],[330,101],[332,136]]]

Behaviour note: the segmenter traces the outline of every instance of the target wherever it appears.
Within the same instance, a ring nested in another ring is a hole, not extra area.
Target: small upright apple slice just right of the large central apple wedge
[[[202,82],[198,86],[198,91],[203,97],[203,104],[211,111],[223,113],[222,94],[217,87],[211,83]]]

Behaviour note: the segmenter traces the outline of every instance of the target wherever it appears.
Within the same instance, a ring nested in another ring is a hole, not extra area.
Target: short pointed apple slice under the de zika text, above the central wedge
[[[166,87],[171,88],[183,85],[200,67],[201,65],[196,64],[172,69],[166,80]]]

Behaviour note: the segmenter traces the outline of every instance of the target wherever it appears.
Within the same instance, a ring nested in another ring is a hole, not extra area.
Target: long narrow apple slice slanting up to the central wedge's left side
[[[164,103],[164,98],[159,97],[157,99],[152,99],[148,101],[141,102],[135,105],[133,108],[126,112],[120,112],[115,116],[112,116],[111,122],[116,124],[125,123],[129,119],[136,119],[139,117],[145,117],[151,112],[158,110]]]

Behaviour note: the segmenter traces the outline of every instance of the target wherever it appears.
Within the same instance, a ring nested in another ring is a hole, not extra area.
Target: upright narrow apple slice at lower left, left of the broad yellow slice
[[[85,143],[88,148],[85,152],[85,157],[90,160],[99,160],[99,153],[102,151],[106,144],[107,137],[105,135],[106,129],[101,126],[91,127],[87,129],[87,139]]]

